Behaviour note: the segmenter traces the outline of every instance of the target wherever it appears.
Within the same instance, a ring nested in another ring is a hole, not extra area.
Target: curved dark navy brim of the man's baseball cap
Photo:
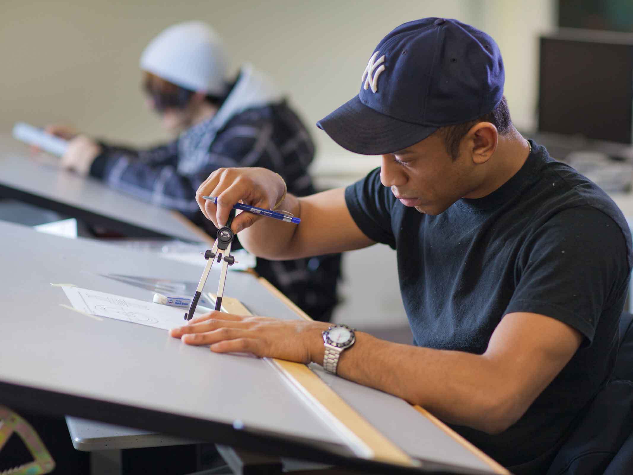
[[[358,96],[316,123],[342,148],[361,155],[393,153],[416,144],[438,127],[411,124],[376,112]]]

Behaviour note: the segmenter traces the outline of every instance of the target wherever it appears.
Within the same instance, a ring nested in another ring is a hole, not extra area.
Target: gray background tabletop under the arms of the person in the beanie
[[[55,160],[55,159],[53,159]],[[167,236],[199,242],[171,210],[115,191],[90,177],[29,158],[27,146],[0,132],[0,197],[28,201],[131,236]]]

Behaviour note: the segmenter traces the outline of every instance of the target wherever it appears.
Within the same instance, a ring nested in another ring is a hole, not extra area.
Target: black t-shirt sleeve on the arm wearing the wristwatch
[[[506,308],[568,324],[590,345],[598,319],[629,280],[624,233],[592,206],[554,215],[523,243],[517,287]],[[620,293],[621,295],[621,293]]]

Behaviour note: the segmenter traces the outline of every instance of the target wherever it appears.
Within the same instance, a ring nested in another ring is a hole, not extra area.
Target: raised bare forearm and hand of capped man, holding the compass
[[[280,209],[301,218],[301,224],[276,219],[261,219],[253,213],[240,213],[231,224],[244,249],[268,260],[287,260],[360,249],[374,244],[360,230],[349,213],[345,189],[330,189],[297,198],[287,194],[285,183],[267,168],[220,168],[196,192],[200,209],[218,229],[229,219],[238,201],[259,208]],[[218,204],[204,200],[215,196]],[[282,200],[281,203],[279,201]],[[253,224],[255,224],[253,226]]]

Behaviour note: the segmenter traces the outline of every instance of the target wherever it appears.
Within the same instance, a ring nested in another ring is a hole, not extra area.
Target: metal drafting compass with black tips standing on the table
[[[234,217],[235,209],[231,210],[227,224],[218,229],[217,239],[215,240],[211,250],[206,250],[204,253],[206,266],[204,267],[202,277],[200,277],[200,282],[198,282],[194,298],[191,299],[189,312],[185,313],[185,320],[191,320],[193,317],[194,312],[196,311],[197,302],[202,294],[204,284],[206,284],[206,279],[209,277],[211,266],[213,266],[213,263],[216,260],[222,263],[222,270],[220,271],[220,282],[218,282],[218,296],[215,299],[215,310],[219,311],[220,308],[222,308],[222,295],[224,294],[224,284],[227,280],[227,270],[229,269],[229,265],[233,265],[235,262],[235,258],[230,255],[231,245],[233,243],[233,238],[235,237],[235,233],[231,231],[231,223],[233,222]]]

